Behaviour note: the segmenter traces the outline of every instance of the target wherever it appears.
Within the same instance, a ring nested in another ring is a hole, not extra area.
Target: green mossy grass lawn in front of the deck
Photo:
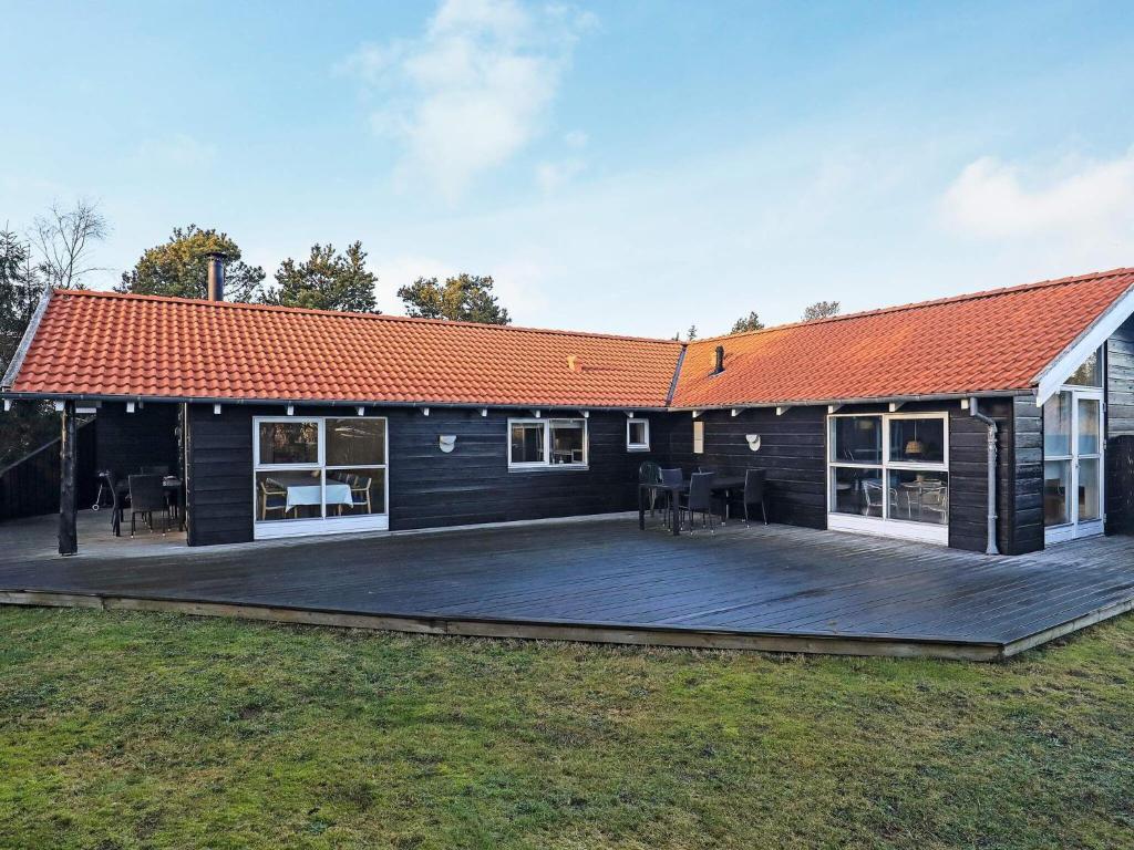
[[[1134,617],[1002,665],[0,609],[0,845],[1134,847]]]

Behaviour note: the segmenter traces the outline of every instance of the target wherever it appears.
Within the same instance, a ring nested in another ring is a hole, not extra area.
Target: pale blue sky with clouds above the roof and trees
[[[379,304],[672,335],[1134,265],[1126,3],[10,3],[0,223],[96,199],[109,287],[178,224]]]

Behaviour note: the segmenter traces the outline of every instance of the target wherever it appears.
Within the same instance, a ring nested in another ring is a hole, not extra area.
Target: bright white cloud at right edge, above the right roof
[[[979,159],[946,192],[946,220],[992,239],[1063,233],[1101,241],[1134,222],[1134,150],[1106,161],[1066,159],[1046,171]]]

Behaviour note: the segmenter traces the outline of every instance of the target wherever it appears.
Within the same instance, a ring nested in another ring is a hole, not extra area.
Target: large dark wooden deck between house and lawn
[[[0,525],[0,602],[434,634],[996,660],[1134,607],[1134,537],[988,558],[787,526],[672,537],[636,516],[187,549],[83,517]]]

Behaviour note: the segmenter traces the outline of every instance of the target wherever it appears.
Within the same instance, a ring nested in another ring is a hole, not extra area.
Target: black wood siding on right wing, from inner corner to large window
[[[706,410],[704,453],[693,453],[692,414],[666,418],[665,460],[686,474],[699,466],[720,473],[747,468],[768,471],[768,518],[773,522],[827,528],[827,441],[824,407],[794,407],[777,416],[772,408],[752,408],[733,416]],[[746,434],[760,434],[752,451]]]

